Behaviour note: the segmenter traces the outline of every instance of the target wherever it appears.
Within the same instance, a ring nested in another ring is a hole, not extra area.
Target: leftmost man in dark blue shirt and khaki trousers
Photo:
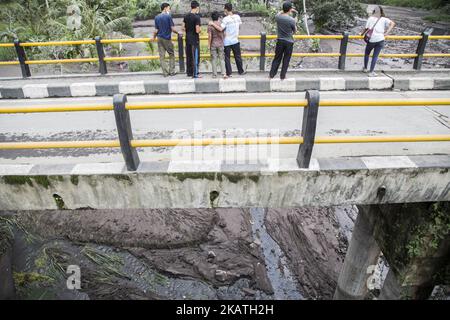
[[[153,33],[153,40],[158,36],[159,61],[164,77],[176,74],[172,32],[179,34],[174,27],[173,19],[170,15],[170,5],[164,2],[161,4],[161,13],[155,18],[155,32]],[[169,68],[167,68],[165,61],[166,52],[169,54]]]

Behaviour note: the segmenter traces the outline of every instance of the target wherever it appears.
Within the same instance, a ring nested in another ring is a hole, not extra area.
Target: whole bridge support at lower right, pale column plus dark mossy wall
[[[389,273],[380,300],[427,299],[450,283],[450,202],[359,206],[334,299],[364,299],[380,249]]]

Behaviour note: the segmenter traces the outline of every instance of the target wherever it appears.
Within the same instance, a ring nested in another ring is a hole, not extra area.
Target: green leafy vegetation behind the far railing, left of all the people
[[[2,0],[0,42],[84,40],[133,36],[136,0]],[[79,17],[79,18],[77,18]],[[3,28],[4,26],[4,28]],[[35,59],[89,58],[92,45],[27,48]],[[13,60],[11,50],[0,51],[1,60]]]

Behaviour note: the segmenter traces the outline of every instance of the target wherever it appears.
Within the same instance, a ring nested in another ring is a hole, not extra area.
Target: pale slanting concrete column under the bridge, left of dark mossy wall
[[[345,255],[344,265],[339,274],[334,293],[335,300],[362,300],[367,294],[367,273],[369,266],[376,265],[380,248],[373,237],[374,224],[371,215],[374,206],[359,209],[353,229],[352,240]]]

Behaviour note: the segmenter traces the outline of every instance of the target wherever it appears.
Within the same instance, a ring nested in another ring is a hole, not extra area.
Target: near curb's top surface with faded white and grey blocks
[[[227,163],[221,160],[202,161],[143,161],[137,173],[172,172],[284,172],[323,170],[378,170],[405,168],[450,168],[448,155],[364,156],[313,158],[308,169],[298,167],[296,159],[268,158],[255,164]],[[71,164],[0,164],[0,177],[12,175],[93,175],[122,174],[128,172],[123,162],[71,163]]]

